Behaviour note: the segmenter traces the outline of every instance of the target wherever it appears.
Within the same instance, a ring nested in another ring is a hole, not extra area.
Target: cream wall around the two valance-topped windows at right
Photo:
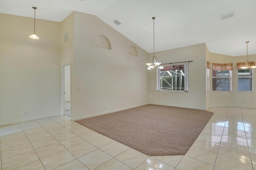
[[[249,55],[249,61],[256,61],[256,55]],[[238,76],[236,63],[245,62],[246,56],[227,56],[216,53],[210,53],[210,62],[212,63],[233,63],[232,70],[232,91],[219,92],[212,91],[212,71],[210,72],[210,106],[237,106],[256,108],[255,92],[238,92]],[[254,90],[256,90],[256,70],[254,69]]]

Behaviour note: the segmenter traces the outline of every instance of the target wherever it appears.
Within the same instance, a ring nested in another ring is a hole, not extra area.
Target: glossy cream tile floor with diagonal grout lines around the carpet
[[[256,170],[256,109],[214,107],[186,155],[147,156],[66,116],[0,127],[0,170]]]

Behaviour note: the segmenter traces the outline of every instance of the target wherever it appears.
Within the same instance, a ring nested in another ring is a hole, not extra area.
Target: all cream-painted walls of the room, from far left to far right
[[[246,61],[246,56],[209,53],[205,44],[157,52],[162,63],[193,61],[189,92],[157,92],[156,70],[149,71],[145,65],[152,54],[96,16],[73,12],[61,23],[37,19],[37,41],[28,38],[34,31],[33,18],[0,14],[0,22],[0,125],[60,115],[60,96],[65,100],[61,83],[68,64],[73,120],[149,102],[195,109],[256,107],[255,92],[237,91],[236,63]],[[64,42],[67,32],[69,38]],[[108,37],[111,50],[94,46],[98,35]],[[128,54],[130,45],[136,47],[138,57]],[[206,92],[207,60],[234,64],[232,92],[212,92],[212,88]],[[256,55],[249,60],[256,61]]]

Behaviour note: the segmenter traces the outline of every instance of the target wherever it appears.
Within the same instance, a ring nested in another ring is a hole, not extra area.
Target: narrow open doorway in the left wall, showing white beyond
[[[65,109],[64,109],[64,115],[70,117],[71,116],[71,88],[70,88],[70,65],[64,66],[64,80],[65,80]]]

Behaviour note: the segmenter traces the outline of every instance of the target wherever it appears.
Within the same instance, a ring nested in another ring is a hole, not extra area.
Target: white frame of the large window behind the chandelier
[[[184,65],[184,90],[177,90],[177,88],[175,88],[176,90],[174,90],[173,87],[171,87],[170,90],[161,90],[161,69],[157,69],[156,71],[156,80],[157,80],[157,85],[156,85],[156,90],[160,91],[160,92],[188,92],[188,63],[177,63],[177,64],[170,64],[171,69],[168,71],[173,72],[172,68],[173,66],[179,66],[179,65]],[[172,79],[173,80],[173,79]],[[173,81],[172,81],[172,85],[173,85]]]

